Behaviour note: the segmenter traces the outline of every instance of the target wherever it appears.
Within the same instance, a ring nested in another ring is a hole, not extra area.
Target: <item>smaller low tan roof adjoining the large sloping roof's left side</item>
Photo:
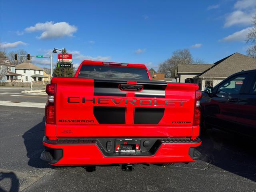
[[[212,64],[190,64],[190,65],[178,65],[178,73],[202,73],[206,69],[210,68]]]

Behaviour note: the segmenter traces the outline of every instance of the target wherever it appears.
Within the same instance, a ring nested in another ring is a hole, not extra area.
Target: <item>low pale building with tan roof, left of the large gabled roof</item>
[[[211,64],[178,65],[175,70],[175,79],[178,83],[194,83],[194,77],[210,68]]]

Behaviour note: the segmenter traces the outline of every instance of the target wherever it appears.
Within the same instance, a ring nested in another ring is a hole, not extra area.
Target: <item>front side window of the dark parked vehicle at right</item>
[[[226,80],[219,87],[217,93],[219,94],[239,94],[248,74],[241,74]]]

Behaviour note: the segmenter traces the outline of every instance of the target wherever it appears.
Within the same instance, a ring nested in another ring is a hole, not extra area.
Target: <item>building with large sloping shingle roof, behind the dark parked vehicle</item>
[[[205,87],[214,87],[234,73],[252,69],[256,69],[256,58],[234,53],[215,62],[202,73],[194,76],[193,79],[194,83],[199,85],[200,90],[204,90]]]

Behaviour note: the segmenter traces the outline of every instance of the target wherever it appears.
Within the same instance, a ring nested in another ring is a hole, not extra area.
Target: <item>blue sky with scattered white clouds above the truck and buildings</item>
[[[0,48],[49,56],[66,48],[73,64],[98,60],[158,64],[177,49],[212,64],[246,54],[255,0],[83,1],[0,0]],[[54,54],[54,64],[57,54]],[[50,68],[50,59],[33,58]]]

